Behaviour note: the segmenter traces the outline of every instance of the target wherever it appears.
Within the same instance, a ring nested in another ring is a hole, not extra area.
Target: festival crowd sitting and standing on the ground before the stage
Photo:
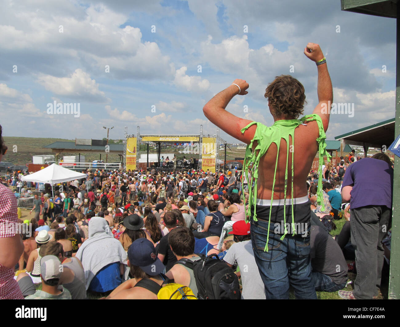
[[[350,222],[336,238],[329,234],[342,210],[350,219],[341,188],[351,163],[342,159],[336,167],[323,166],[322,176],[310,171],[306,181],[312,215],[312,281],[317,291],[346,287],[346,259],[355,256]],[[22,235],[24,251],[14,276],[20,293],[14,296],[152,299],[173,279],[186,287],[184,296],[193,293],[202,298],[193,265],[214,255],[241,278],[239,298],[266,298],[246,223],[249,190],[244,172],[98,169],[85,173],[86,179],[56,186],[54,197],[45,191],[35,193],[30,210],[34,217],[24,221],[33,232]],[[323,206],[317,203],[318,177],[323,181]],[[40,290],[35,287],[38,283]]]

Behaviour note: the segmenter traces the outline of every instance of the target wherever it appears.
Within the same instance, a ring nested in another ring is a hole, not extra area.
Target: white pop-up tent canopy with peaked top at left
[[[34,172],[33,174],[22,176],[21,180],[25,182],[39,182],[54,185],[79,178],[86,178],[86,174],[58,166],[57,164],[52,164],[42,170]]]

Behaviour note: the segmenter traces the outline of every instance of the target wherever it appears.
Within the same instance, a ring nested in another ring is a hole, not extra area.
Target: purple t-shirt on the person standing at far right
[[[350,208],[387,206],[392,208],[393,168],[386,161],[364,158],[346,169],[342,188],[352,185]]]

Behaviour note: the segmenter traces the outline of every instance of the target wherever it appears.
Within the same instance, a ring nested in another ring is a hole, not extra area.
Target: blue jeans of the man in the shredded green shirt
[[[311,278],[310,224],[308,236],[274,233],[274,223],[268,230],[268,220],[251,221],[251,240],[254,258],[265,286],[267,299],[288,299],[289,285],[294,288],[296,299],[316,299]],[[269,232],[268,252],[264,252]]]

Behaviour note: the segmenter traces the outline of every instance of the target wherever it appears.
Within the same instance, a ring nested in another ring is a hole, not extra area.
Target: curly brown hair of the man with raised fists
[[[270,101],[272,115],[284,119],[297,119],[304,113],[306,95],[304,87],[290,75],[276,76],[268,85],[264,97]]]

